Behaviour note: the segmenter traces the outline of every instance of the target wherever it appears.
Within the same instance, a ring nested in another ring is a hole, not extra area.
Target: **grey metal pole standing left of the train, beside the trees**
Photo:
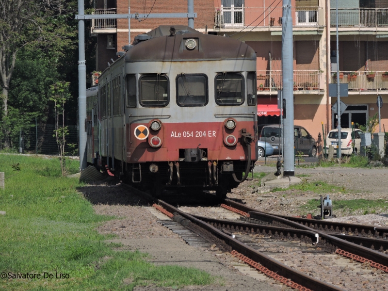
[[[83,0],[78,0],[78,14],[84,14]],[[86,168],[86,61],[85,61],[85,20],[78,20],[78,132],[79,152],[80,152],[80,170]]]

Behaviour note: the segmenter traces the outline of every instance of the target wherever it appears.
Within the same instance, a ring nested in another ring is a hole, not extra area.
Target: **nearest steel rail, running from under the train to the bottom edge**
[[[188,214],[184,211],[178,210],[174,206],[162,201],[157,200],[159,205],[161,205],[164,209],[172,212],[177,213],[175,215],[182,216],[188,220],[190,220],[195,225],[203,228],[204,230],[210,232],[213,236],[218,238],[219,240],[222,240],[226,242],[227,246],[229,246],[229,251],[231,249],[241,253],[242,255],[248,257],[251,260],[254,260],[255,262],[260,263],[264,267],[268,268],[269,270],[275,270],[277,275],[283,276],[285,278],[291,278],[293,281],[295,281],[297,284],[300,284],[306,288],[309,288],[311,290],[319,290],[319,291],[340,291],[343,289],[340,289],[337,286],[325,283],[323,281],[320,281],[318,279],[312,278],[309,275],[306,275],[302,272],[299,272],[295,269],[292,269],[285,264],[282,264],[275,259],[270,258],[267,255],[264,255],[260,253],[259,251],[253,249],[250,246],[245,245],[244,243],[232,238],[226,233],[223,233],[222,231],[218,230],[216,227],[211,226],[210,224],[195,218],[193,215]]]

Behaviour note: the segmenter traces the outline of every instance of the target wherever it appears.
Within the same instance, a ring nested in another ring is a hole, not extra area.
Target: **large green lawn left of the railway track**
[[[19,172],[12,167],[17,163]],[[75,173],[79,161],[68,166]],[[0,280],[1,290],[132,290],[215,281],[193,268],[155,266],[145,254],[117,251],[120,244],[103,242],[113,236],[98,234],[96,227],[113,217],[94,212],[76,191],[83,184],[61,177],[57,158],[0,154],[0,172],[6,178],[5,190],[0,190],[0,210],[6,211],[0,215],[0,272],[54,275]],[[56,273],[68,278],[57,279]]]

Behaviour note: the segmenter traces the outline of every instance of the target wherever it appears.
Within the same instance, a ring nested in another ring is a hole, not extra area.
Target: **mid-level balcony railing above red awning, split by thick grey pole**
[[[258,91],[277,91],[282,88],[282,71],[257,71]],[[322,91],[322,71],[294,71],[294,91]]]

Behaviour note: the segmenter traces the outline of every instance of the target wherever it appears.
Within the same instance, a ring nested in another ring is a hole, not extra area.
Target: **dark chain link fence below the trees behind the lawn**
[[[68,125],[67,129],[66,156],[78,156],[78,128],[75,125]],[[54,124],[25,125],[23,128],[14,128],[8,132],[2,129],[0,149],[11,149],[26,154],[59,155],[54,130]]]

